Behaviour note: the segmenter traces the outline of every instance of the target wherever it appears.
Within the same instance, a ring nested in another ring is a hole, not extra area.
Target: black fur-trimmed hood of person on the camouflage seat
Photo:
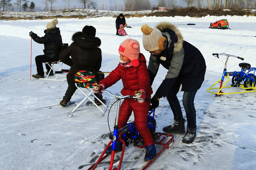
[[[95,49],[101,45],[101,40],[98,37],[88,36],[81,31],[74,33],[71,40],[84,49]]]

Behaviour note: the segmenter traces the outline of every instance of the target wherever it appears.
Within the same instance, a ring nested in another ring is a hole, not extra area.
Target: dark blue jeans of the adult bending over
[[[182,120],[183,115],[179,100],[177,98],[177,93],[179,92],[180,83],[175,82],[172,86],[172,89],[166,95],[166,98],[170,104],[170,107],[173,111],[175,120]],[[186,116],[187,116],[187,126],[195,127],[196,126],[196,109],[194,105],[194,99],[197,91],[186,92],[184,91],[182,104],[184,106]]]

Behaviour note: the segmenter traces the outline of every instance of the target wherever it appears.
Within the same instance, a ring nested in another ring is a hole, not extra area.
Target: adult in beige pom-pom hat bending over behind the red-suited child
[[[162,22],[155,28],[141,27],[143,46],[151,53],[148,64],[152,85],[160,64],[168,70],[165,79],[151,99],[152,108],[159,105],[159,99],[167,98],[174,115],[174,123],[163,128],[168,133],[185,133],[185,119],[182,115],[177,93],[182,84],[183,106],[187,117],[187,131],[182,140],[192,143],[196,137],[196,110],[194,99],[204,81],[206,64],[201,52],[183,40],[179,30],[171,23]]]

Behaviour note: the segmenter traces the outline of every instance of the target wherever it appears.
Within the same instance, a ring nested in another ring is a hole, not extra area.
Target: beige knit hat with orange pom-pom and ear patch
[[[143,47],[147,51],[164,50],[166,48],[166,38],[162,32],[157,28],[151,28],[144,24],[141,27]]]

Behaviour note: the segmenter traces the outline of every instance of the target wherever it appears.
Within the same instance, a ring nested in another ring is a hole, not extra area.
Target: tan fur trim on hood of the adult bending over
[[[183,37],[182,37],[181,33],[179,32],[179,30],[177,29],[177,27],[174,26],[172,23],[161,22],[155,28],[159,29],[163,33],[163,35],[167,36],[169,43],[171,41],[170,35],[168,33],[165,33],[165,29],[169,28],[169,29],[173,30],[178,39],[177,43],[174,43],[174,52],[178,52],[183,48]]]

